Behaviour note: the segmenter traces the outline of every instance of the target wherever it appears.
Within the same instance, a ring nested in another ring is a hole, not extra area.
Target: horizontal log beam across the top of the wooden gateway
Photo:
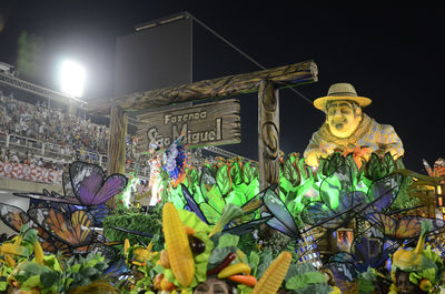
[[[118,105],[125,111],[152,109],[187,101],[256,92],[263,80],[270,81],[278,88],[294,87],[317,81],[317,74],[318,70],[316,63],[309,60],[251,73],[137,92],[105,101],[100,100],[89,104],[88,109],[91,114],[102,114],[113,105]]]

